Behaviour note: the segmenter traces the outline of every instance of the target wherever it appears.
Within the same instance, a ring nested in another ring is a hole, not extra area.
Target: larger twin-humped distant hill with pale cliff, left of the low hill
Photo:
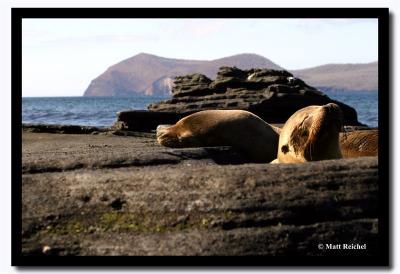
[[[195,61],[141,53],[108,68],[90,83],[84,96],[168,95],[175,76],[200,72],[214,78],[221,66],[282,69],[256,54]]]

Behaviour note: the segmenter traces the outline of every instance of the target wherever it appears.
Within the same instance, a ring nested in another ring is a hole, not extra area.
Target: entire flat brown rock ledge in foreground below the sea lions
[[[378,159],[254,164],[153,136],[22,133],[24,255],[376,255]],[[366,244],[321,250],[318,244]]]

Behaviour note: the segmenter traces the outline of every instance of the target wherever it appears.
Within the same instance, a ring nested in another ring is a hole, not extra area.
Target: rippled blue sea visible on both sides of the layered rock
[[[371,127],[378,126],[377,92],[326,91],[330,98],[354,107],[358,120]],[[152,102],[169,97],[23,97],[22,122],[105,127],[116,120],[121,110],[147,109]]]

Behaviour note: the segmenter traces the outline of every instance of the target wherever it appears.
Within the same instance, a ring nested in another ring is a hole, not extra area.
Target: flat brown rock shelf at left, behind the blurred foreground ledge
[[[40,138],[38,138],[40,136]],[[118,168],[160,164],[196,165],[244,163],[230,147],[173,150],[157,144],[155,134],[134,137],[23,132],[22,173],[45,173],[82,168]],[[60,150],[60,148],[62,148]],[[40,155],[38,157],[38,155]]]

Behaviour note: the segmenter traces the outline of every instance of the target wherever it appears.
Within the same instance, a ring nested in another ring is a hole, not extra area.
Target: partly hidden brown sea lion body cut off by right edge
[[[378,130],[355,130],[340,134],[344,158],[378,156]]]

